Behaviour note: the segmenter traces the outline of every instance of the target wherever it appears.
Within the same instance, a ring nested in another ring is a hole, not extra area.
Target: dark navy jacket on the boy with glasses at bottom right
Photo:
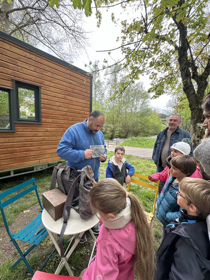
[[[208,221],[188,215],[184,209],[181,213],[178,222],[173,221],[166,227],[166,234],[156,253],[154,280],[209,280]]]

